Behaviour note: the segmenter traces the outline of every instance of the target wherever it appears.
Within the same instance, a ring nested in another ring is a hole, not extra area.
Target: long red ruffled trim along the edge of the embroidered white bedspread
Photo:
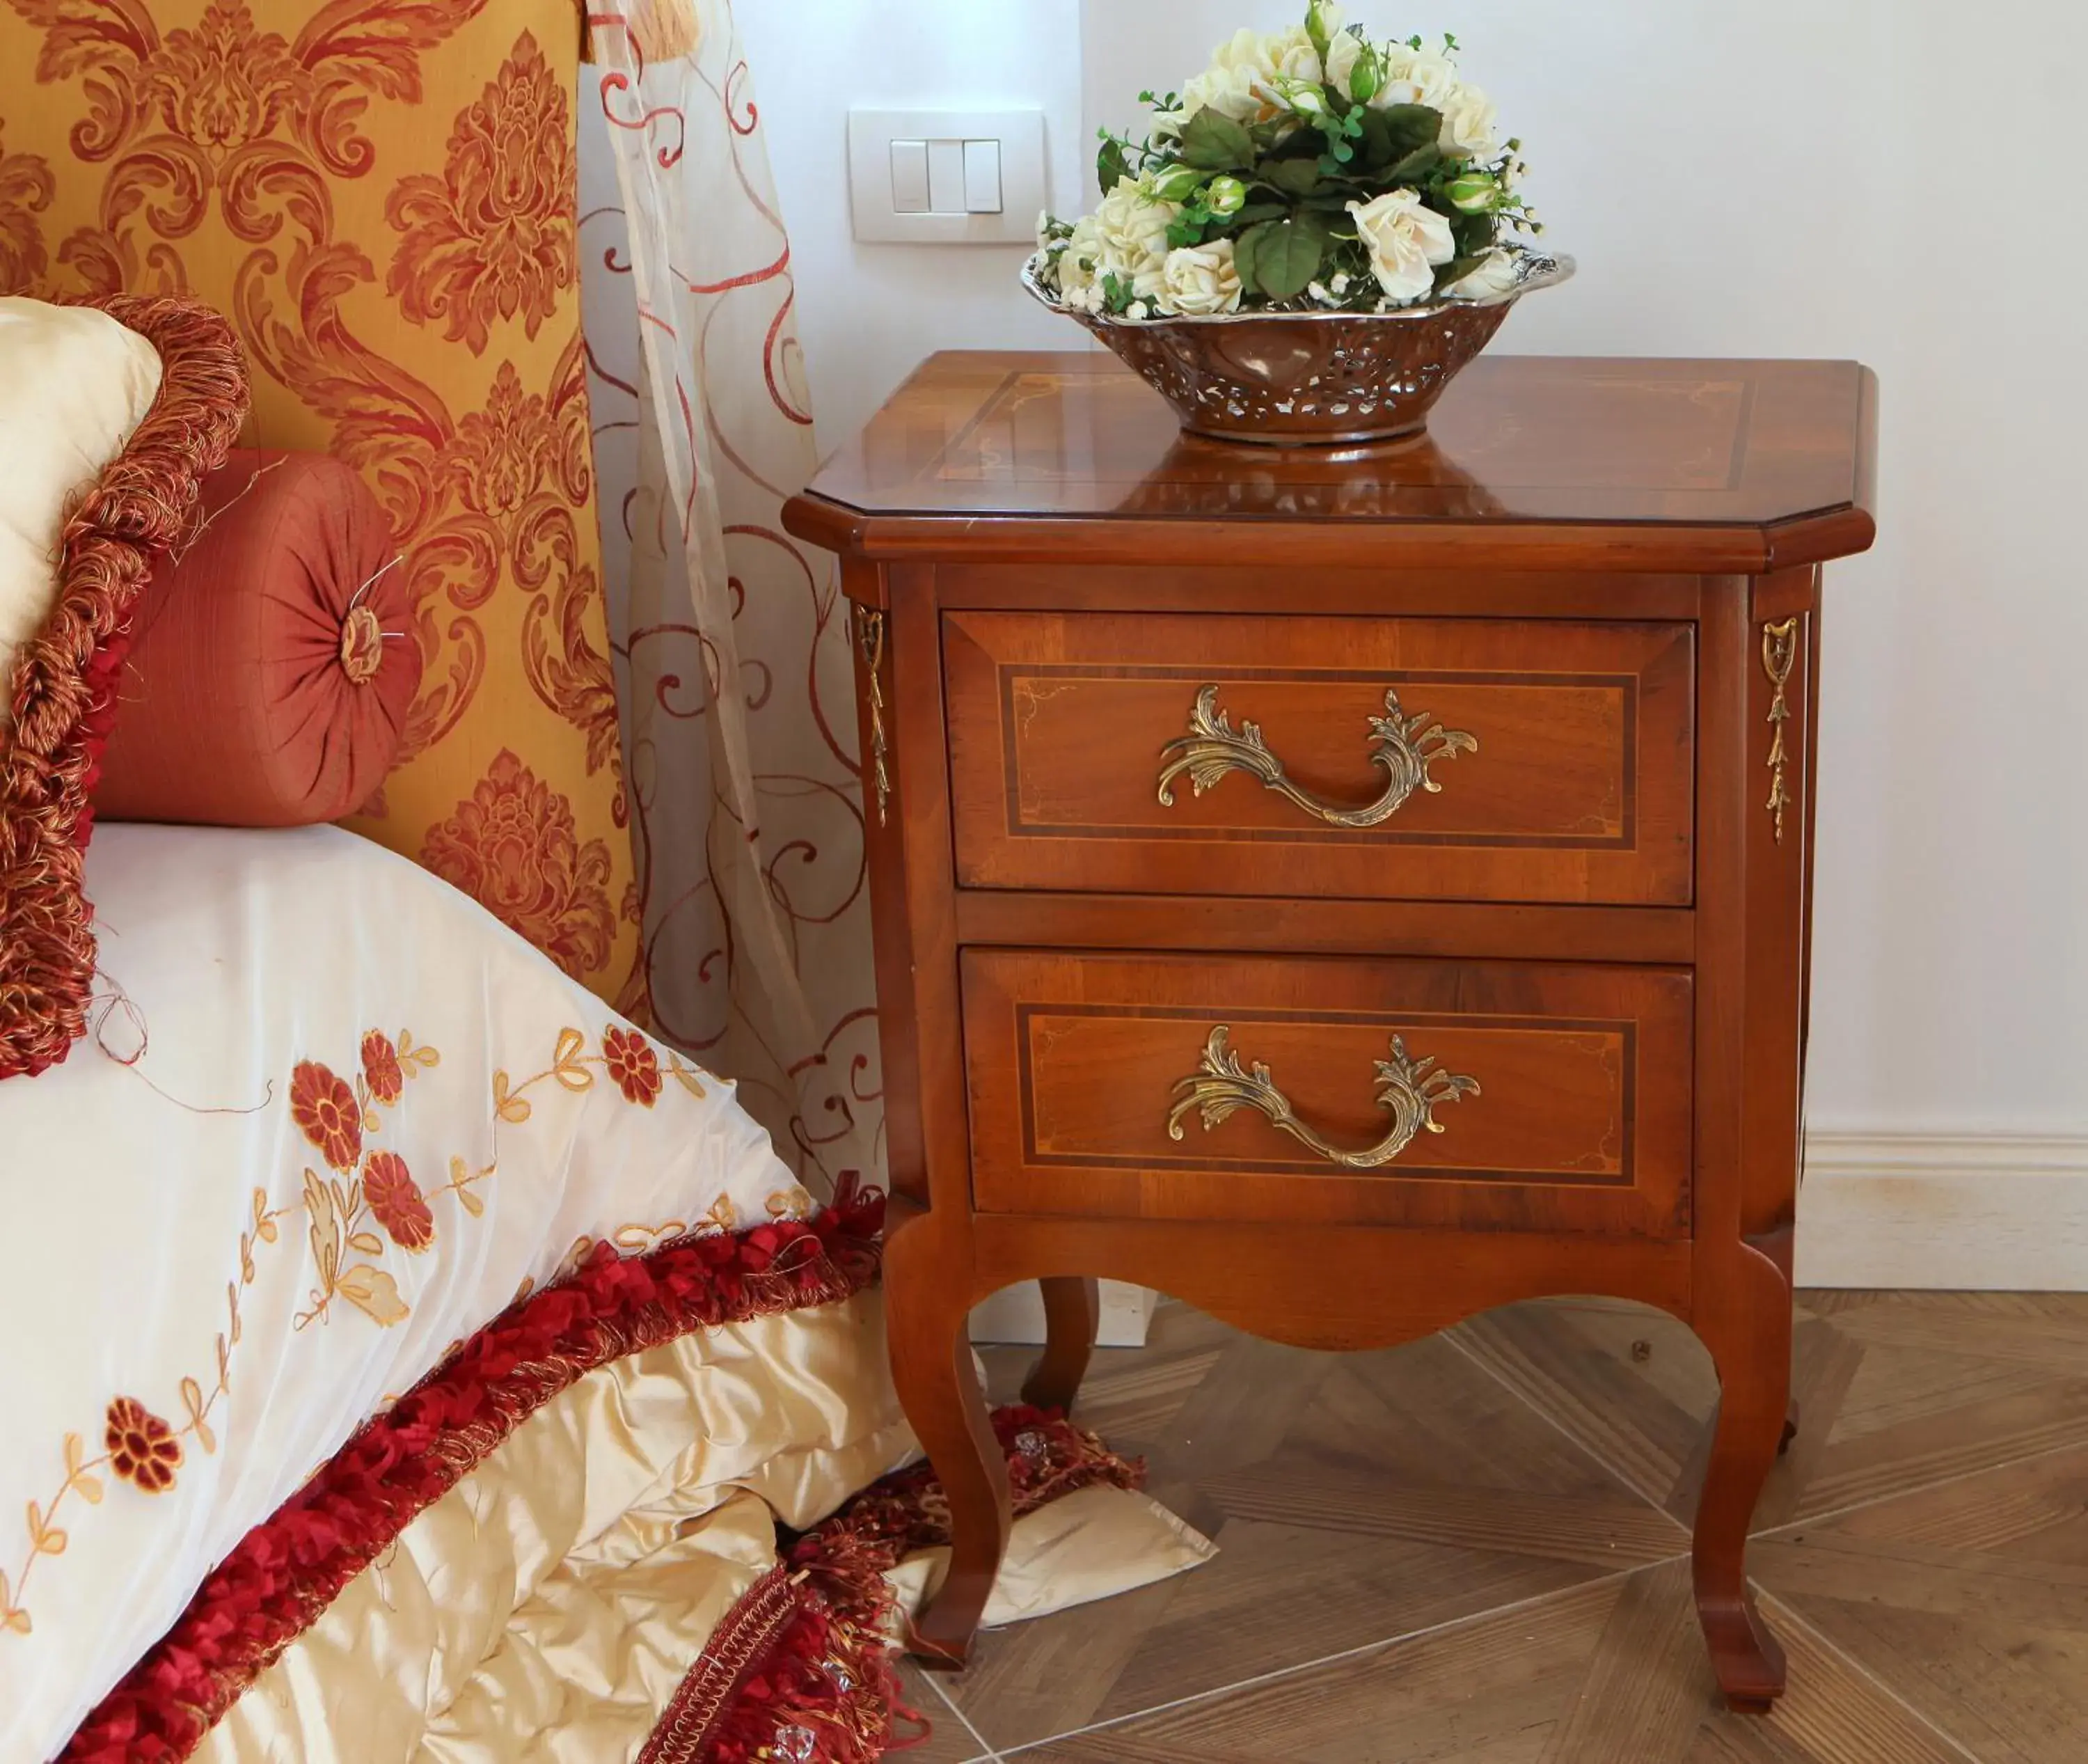
[[[88,1716],[65,1764],[186,1758],[217,1718],[428,1505],[595,1367],[695,1330],[846,1298],[877,1278],[883,1196],[643,1257],[599,1244],[474,1334],[255,1526]]]

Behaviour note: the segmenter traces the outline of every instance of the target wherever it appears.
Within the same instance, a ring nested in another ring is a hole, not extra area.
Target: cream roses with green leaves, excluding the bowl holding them
[[[1102,132],[1102,205],[1044,215],[1036,284],[1082,313],[1384,313],[1512,292],[1541,232],[1518,140],[1457,69],[1457,40],[1374,42],[1311,0],[1238,31],[1182,94],[1142,94],[1146,140]]]

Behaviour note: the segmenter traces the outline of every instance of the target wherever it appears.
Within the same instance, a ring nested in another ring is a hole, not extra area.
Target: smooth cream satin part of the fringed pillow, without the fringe
[[[94,307],[0,299],[0,729],[15,651],[58,599],[58,541],[159,397],[159,353]]]

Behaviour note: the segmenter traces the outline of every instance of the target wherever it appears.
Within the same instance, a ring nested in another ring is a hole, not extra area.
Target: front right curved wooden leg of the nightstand
[[[1769,1257],[1741,1246],[1721,1269],[1725,1303],[1708,1307],[1698,1334],[1718,1365],[1718,1432],[1698,1501],[1698,1618],[1712,1670],[1739,1714],[1766,1714],[1783,1695],[1783,1647],[1748,1589],[1748,1524],[1777,1461],[1792,1399],[1792,1290]]]

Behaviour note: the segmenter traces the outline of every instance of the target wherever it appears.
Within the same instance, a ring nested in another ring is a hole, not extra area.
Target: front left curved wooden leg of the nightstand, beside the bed
[[[971,1357],[969,1294],[950,1280],[927,1219],[892,1232],[885,1269],[892,1382],[950,1501],[950,1574],[915,1624],[910,1649],[923,1666],[954,1670],[971,1653],[1009,1547],[1009,1465]]]

